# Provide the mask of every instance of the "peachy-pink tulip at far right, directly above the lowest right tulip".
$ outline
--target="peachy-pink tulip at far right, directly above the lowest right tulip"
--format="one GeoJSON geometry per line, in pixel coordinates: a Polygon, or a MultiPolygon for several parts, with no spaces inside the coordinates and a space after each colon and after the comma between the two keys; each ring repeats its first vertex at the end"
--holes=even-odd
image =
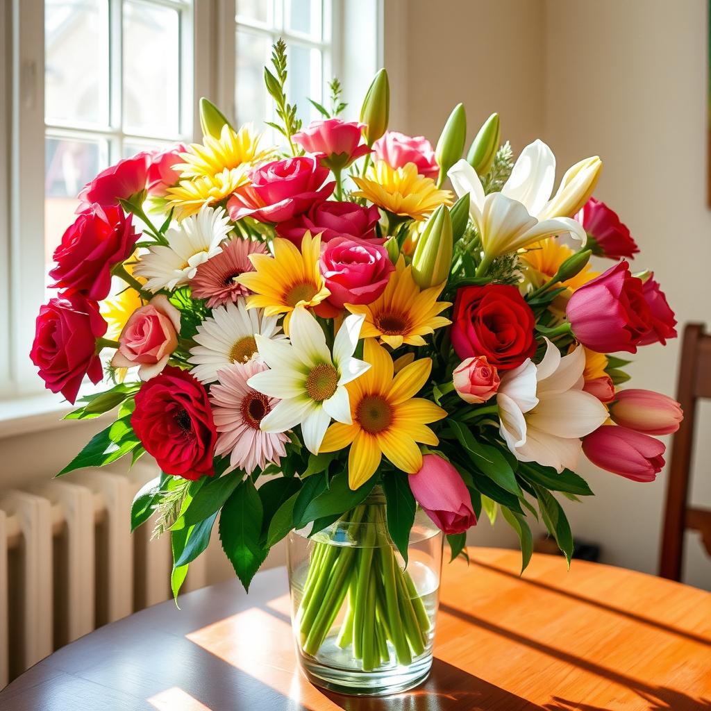
{"type": "Polygon", "coordinates": [[[678,402],[653,390],[621,390],[610,406],[617,424],[645,434],[671,434],[679,429],[684,415],[678,402]]]}

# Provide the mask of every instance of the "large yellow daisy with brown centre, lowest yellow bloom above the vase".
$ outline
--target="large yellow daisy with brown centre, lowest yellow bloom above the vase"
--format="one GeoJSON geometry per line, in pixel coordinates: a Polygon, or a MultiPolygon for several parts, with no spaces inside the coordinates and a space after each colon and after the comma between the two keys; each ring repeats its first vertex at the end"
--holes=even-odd
{"type": "Polygon", "coordinates": [[[383,454],[397,469],[408,474],[419,471],[422,452],[417,442],[439,444],[427,424],[447,417],[434,402],[413,397],[427,383],[431,358],[415,360],[393,377],[392,358],[374,338],[366,339],[363,358],[370,370],[346,386],[353,422],[331,424],[319,449],[338,451],[351,445],[348,484],[352,489],[375,474],[383,454]]]}

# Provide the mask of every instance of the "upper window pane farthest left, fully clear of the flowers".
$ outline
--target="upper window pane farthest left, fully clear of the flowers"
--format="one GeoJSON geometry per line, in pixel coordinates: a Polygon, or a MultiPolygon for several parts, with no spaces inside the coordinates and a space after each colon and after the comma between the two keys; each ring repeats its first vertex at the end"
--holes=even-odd
{"type": "Polygon", "coordinates": [[[45,116],[108,124],[107,0],[46,0],[45,116]]]}

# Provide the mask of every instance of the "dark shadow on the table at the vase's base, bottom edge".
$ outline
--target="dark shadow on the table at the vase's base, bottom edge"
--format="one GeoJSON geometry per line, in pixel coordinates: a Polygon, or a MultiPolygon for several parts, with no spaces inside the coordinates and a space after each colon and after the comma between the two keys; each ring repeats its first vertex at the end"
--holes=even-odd
{"type": "Polygon", "coordinates": [[[343,696],[323,692],[345,711],[540,711],[541,707],[500,689],[441,659],[432,662],[424,685],[384,698],[343,696]]]}

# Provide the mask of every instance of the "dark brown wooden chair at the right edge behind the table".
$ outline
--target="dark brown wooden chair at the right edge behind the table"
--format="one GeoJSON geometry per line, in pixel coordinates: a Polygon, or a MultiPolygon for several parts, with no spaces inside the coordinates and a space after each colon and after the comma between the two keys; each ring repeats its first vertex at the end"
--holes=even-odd
{"type": "Polygon", "coordinates": [[[685,529],[699,531],[704,547],[711,555],[711,510],[688,505],[696,402],[702,397],[711,397],[711,334],[704,333],[702,324],[687,324],[676,393],[684,410],[684,419],[672,440],[659,565],[661,577],[671,580],[681,577],[685,529]]]}

